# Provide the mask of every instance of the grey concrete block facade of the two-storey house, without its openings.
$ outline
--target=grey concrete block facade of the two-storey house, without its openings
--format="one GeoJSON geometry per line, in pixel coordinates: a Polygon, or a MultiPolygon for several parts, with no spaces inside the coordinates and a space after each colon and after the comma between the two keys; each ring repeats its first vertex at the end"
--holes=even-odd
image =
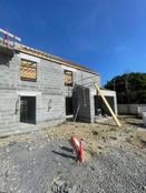
{"type": "MultiPolygon", "coordinates": [[[[68,68],[58,63],[30,57],[37,61],[37,82],[20,80],[21,58],[30,55],[16,53],[8,59],[8,54],[0,53],[0,130],[16,130],[20,123],[20,98],[36,96],[36,122],[61,123],[66,120],[66,96],[72,96],[75,84],[86,88],[91,81],[100,82],[99,75],[72,69],[74,87],[65,87],[64,70],[68,68]],[[90,79],[87,79],[89,78],[90,79]]],[[[70,69],[70,70],[71,70],[70,69]]],[[[90,93],[90,91],[89,91],[90,93]]],[[[80,93],[81,94],[81,93],[80,93]]],[[[87,94],[90,98],[90,94],[87,94]]],[[[80,101],[82,96],[80,95],[80,101]]],[[[93,105],[90,101],[90,106],[93,105]]],[[[90,110],[90,109],[89,109],[90,110]]],[[[93,114],[84,115],[91,120],[93,114]]]]}

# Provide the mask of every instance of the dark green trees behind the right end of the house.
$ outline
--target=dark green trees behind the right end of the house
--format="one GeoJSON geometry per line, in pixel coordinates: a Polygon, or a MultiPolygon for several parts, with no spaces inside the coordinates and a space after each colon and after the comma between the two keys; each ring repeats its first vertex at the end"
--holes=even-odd
{"type": "Polygon", "coordinates": [[[108,81],[105,88],[117,92],[118,103],[146,103],[146,73],[117,75],[108,81]]]}

